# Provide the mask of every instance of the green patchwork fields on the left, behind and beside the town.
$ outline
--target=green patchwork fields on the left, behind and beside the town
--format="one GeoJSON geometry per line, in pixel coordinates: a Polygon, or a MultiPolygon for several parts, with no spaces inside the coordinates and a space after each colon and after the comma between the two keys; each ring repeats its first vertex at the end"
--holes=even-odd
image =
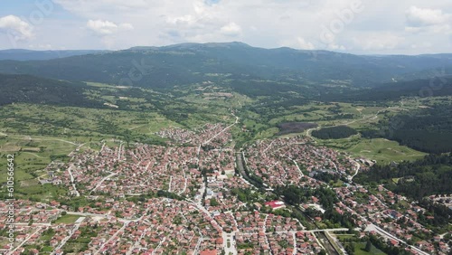
{"type": "Polygon", "coordinates": [[[184,95],[186,91],[181,90],[178,92],[182,97],[174,99],[171,95],[152,90],[119,88],[101,83],[89,85],[93,88],[89,90],[89,97],[101,102],[118,103],[119,109],[25,103],[0,107],[0,118],[4,120],[0,123],[0,175],[6,174],[6,155],[14,154],[17,198],[48,201],[63,194],[65,191],[60,188],[40,184],[38,178],[47,178],[47,165],[52,161],[67,162],[68,154],[76,148],[80,151],[99,150],[103,143],[118,146],[111,142],[113,139],[162,144],[166,139],[155,135],[162,129],[193,129],[208,122],[232,124],[235,117],[231,115],[231,107],[250,102],[250,99],[237,93],[233,93],[231,99],[207,100],[184,95]],[[160,104],[163,110],[156,109],[154,104],[160,104]]]}

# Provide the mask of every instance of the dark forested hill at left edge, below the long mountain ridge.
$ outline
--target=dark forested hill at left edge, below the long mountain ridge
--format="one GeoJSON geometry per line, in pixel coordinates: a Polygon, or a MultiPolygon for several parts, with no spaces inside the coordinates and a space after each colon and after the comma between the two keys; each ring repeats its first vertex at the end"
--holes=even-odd
{"type": "Polygon", "coordinates": [[[63,106],[100,107],[87,99],[85,83],[49,80],[30,75],[0,74],[0,106],[26,102],[63,106]]]}

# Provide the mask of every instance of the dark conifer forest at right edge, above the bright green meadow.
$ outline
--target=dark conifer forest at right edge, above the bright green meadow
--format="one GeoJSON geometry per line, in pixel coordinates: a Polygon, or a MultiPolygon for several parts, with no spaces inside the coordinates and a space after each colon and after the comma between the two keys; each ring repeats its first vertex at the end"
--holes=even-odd
{"type": "Polygon", "coordinates": [[[363,137],[384,137],[427,153],[452,151],[452,106],[437,104],[379,123],[380,130],[364,130],[363,137]]]}

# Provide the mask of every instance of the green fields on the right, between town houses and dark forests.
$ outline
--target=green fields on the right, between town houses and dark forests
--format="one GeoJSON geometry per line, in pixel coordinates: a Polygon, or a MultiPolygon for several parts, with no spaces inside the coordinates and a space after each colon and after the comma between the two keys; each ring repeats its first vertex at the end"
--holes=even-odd
{"type": "MultiPolygon", "coordinates": [[[[407,110],[417,109],[419,103],[416,100],[409,101],[409,103],[405,103],[405,107],[407,110]]],[[[241,114],[241,117],[244,119],[243,124],[250,130],[249,137],[251,139],[293,137],[297,134],[304,134],[313,138],[317,145],[329,146],[346,151],[353,157],[366,157],[376,160],[378,164],[385,164],[392,161],[412,161],[426,154],[407,146],[400,146],[399,143],[384,138],[368,139],[357,134],[347,138],[324,140],[312,137],[310,134],[312,130],[322,127],[346,126],[357,131],[374,128],[379,121],[390,118],[398,109],[400,109],[400,102],[387,103],[385,106],[311,102],[305,106],[283,109],[278,118],[272,118],[268,123],[259,122],[259,118],[265,119],[266,117],[257,113],[241,114]],[[332,119],[334,116],[336,118],[332,119]],[[342,117],[337,118],[337,116],[342,117]],[[300,121],[319,125],[319,127],[311,127],[307,131],[300,130],[299,133],[294,131],[292,134],[278,134],[281,131],[278,126],[281,124],[300,121]]]]}

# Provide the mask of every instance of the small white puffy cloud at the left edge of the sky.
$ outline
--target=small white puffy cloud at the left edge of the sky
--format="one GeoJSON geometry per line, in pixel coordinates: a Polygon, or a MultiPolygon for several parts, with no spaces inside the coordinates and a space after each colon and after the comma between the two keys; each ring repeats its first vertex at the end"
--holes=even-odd
{"type": "Polygon", "coordinates": [[[0,18],[0,31],[8,33],[14,41],[26,40],[33,37],[33,26],[15,15],[0,18]]]}

